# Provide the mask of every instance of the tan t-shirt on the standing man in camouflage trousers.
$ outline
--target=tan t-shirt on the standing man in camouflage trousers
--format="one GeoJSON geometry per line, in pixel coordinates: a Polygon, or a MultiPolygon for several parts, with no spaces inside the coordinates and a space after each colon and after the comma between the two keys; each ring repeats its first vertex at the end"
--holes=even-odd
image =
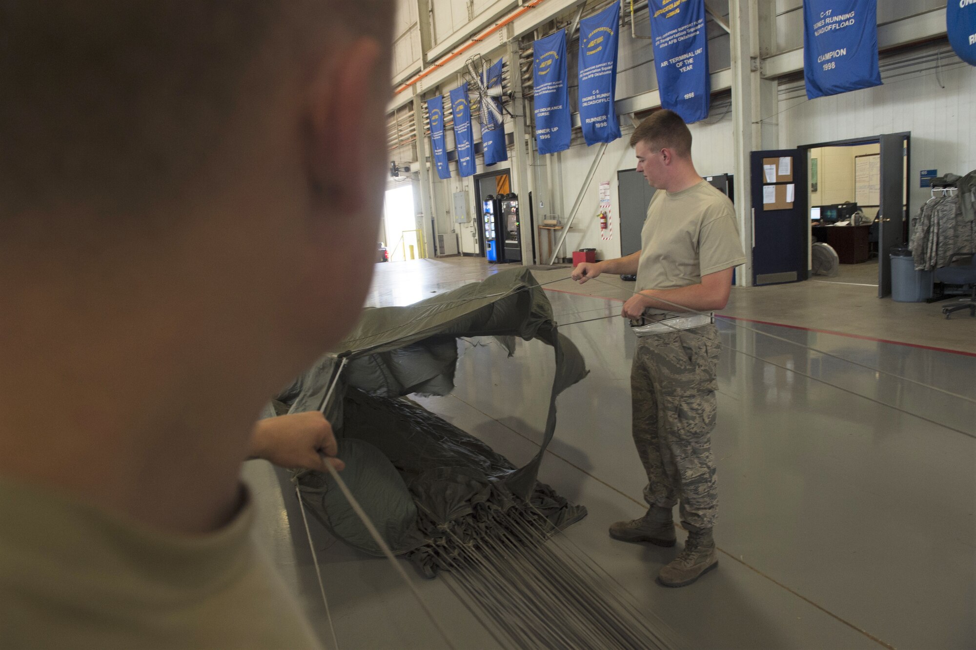
{"type": "Polygon", "coordinates": [[[640,232],[637,291],[701,284],[703,275],[745,262],[732,201],[710,183],[651,197],[640,232]]]}

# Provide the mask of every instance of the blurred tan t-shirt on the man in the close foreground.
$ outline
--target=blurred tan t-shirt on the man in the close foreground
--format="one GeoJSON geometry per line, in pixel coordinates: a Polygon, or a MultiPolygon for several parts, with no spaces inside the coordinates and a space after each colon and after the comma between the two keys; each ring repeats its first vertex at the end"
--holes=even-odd
{"type": "Polygon", "coordinates": [[[0,479],[0,646],[319,648],[253,518],[168,535],[0,479]]]}

